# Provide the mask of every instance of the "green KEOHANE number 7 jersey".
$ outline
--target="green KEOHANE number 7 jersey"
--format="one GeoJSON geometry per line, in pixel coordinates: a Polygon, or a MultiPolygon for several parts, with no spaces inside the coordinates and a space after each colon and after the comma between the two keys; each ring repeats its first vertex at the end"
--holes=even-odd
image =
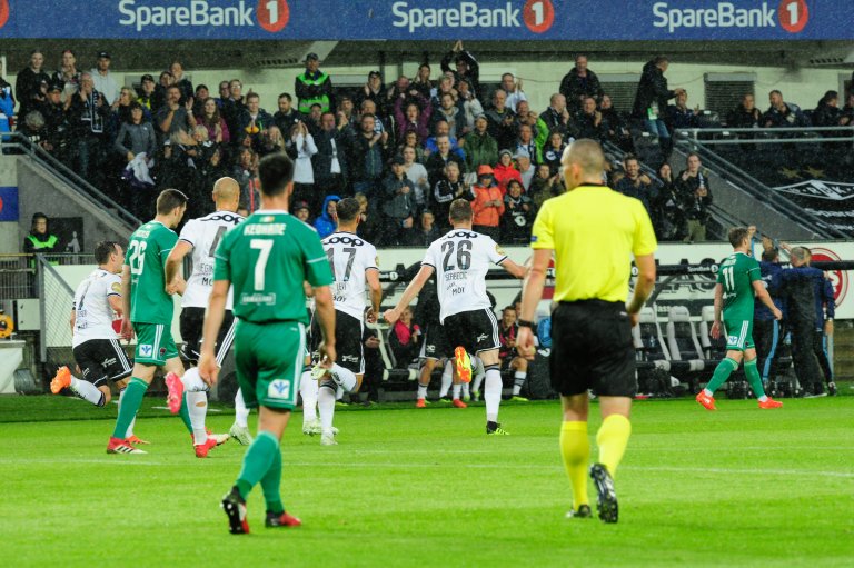
{"type": "Polygon", "coordinates": [[[234,287],[234,313],[245,321],[308,323],[302,282],[332,283],[317,232],[286,211],[259,210],[217,247],[214,280],[234,287]]]}

